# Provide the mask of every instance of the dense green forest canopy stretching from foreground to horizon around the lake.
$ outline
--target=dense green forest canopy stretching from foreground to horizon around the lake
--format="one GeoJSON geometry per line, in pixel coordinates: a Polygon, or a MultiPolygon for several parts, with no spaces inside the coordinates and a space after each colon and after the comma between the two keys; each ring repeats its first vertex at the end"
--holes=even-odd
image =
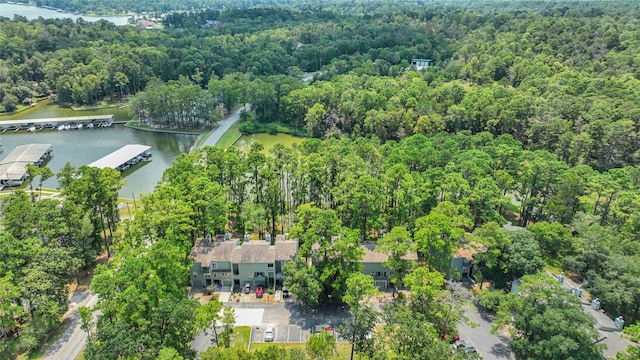
{"type": "MultiPolygon", "coordinates": [[[[93,291],[108,316],[93,324],[86,358],[155,357],[163,348],[193,356],[199,308],[184,291],[189,253],[197,238],[227,230],[289,232],[301,256],[313,244],[326,250],[316,273],[306,272],[306,261],[287,268],[291,278],[315,281],[310,303],[344,299],[362,257],[354,245],[386,233],[442,273],[447,256],[473,238],[487,249],[479,276],[495,288],[547,265],[583,281],[609,313],[640,320],[635,2],[514,1],[497,9],[472,1],[246,1],[223,9],[231,1],[203,0],[141,1],[136,9],[130,1],[40,1],[79,11],[102,4],[109,13],[209,9],[167,13],[153,30],[0,17],[0,112],[53,94],[61,105],[124,99],[142,123],[208,128],[248,104],[244,132],[284,128],[311,138],[268,152],[254,144],[247,153],[208,147],[181,155],[112,244],[122,257],[96,270],[93,291]],[[418,69],[413,59],[433,66],[418,69]],[[524,229],[506,232],[508,221],[524,229]],[[327,240],[337,234],[345,236],[327,240]],[[146,282],[149,274],[156,282],[146,282]],[[168,325],[156,314],[180,316],[168,325]]],[[[9,291],[0,310],[29,324],[16,348],[36,347],[55,326],[66,310],[64,284],[109,251],[104,240],[117,231],[120,178],[75,172],[59,174],[62,206],[21,191],[3,201],[0,282],[9,291]],[[52,255],[39,257],[45,253],[52,255]],[[54,257],[60,269],[51,276],[54,257]],[[49,283],[31,291],[42,278],[49,283]],[[24,313],[21,299],[41,305],[24,313]]],[[[406,253],[380,242],[398,259],[406,253]]],[[[412,270],[397,264],[398,273],[412,270]]],[[[419,284],[418,275],[405,281],[419,284]]],[[[0,325],[18,326],[6,319],[0,325]]],[[[425,334],[436,338],[431,330],[425,334]]]]}

